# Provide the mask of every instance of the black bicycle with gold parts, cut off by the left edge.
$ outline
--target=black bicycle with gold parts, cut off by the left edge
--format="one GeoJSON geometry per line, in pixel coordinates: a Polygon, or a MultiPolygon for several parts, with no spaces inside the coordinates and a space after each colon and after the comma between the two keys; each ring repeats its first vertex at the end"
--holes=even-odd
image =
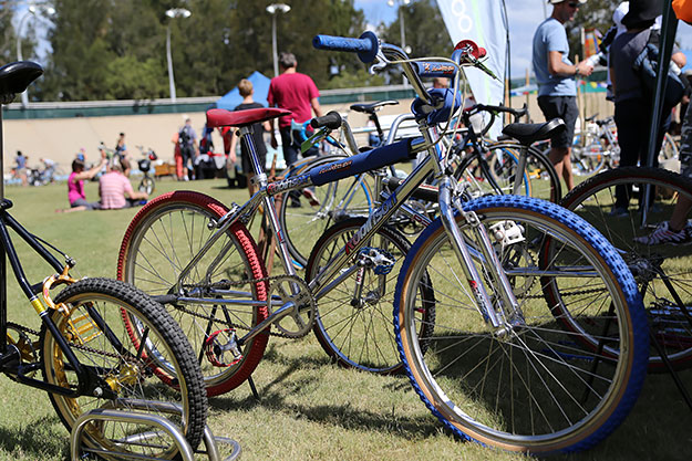
{"type": "MultiPolygon", "coordinates": [[[[0,67],[0,102],[9,104],[42,73],[40,65],[28,61],[0,67]]],[[[0,115],[0,138],[1,122],[0,115]]],[[[0,147],[0,169],[1,159],[0,147]]],[[[179,326],[159,304],[131,285],[73,277],[75,261],[60,252],[65,260],[61,263],[51,252],[59,252],[55,247],[31,234],[9,213],[12,202],[3,196],[0,186],[0,283],[7,284],[7,254],[21,291],[41,318],[41,328],[9,322],[7,290],[0,291],[0,371],[45,390],[68,430],[92,409],[137,410],[178,425],[196,448],[205,428],[207,400],[194,352],[179,326]],[[10,229],[48,263],[53,275],[39,283],[28,280],[10,229]],[[51,295],[60,285],[66,287],[51,295]],[[157,407],[162,402],[182,412],[165,413],[157,407]]],[[[103,421],[90,425],[85,434],[86,451],[92,453],[166,459],[177,453],[172,440],[134,423],[103,421]]]]}

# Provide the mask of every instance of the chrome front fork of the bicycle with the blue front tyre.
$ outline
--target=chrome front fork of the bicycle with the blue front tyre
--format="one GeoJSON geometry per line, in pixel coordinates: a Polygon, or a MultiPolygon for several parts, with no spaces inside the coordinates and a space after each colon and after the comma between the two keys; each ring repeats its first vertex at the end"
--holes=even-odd
{"type": "Polygon", "coordinates": [[[493,242],[488,237],[487,229],[478,220],[475,212],[466,212],[462,206],[458,195],[455,193],[456,186],[451,177],[445,177],[440,185],[440,213],[442,223],[450,235],[454,253],[462,265],[464,275],[476,300],[476,307],[486,322],[489,322],[497,336],[505,336],[512,326],[524,323],[524,315],[519,308],[514,290],[509,280],[503,272],[502,262],[495,252],[493,242]],[[458,210],[462,218],[468,224],[473,240],[478,247],[478,262],[489,275],[488,283],[496,286],[499,298],[495,305],[488,295],[483,277],[478,273],[474,258],[464,239],[454,217],[454,210],[458,210]]]}

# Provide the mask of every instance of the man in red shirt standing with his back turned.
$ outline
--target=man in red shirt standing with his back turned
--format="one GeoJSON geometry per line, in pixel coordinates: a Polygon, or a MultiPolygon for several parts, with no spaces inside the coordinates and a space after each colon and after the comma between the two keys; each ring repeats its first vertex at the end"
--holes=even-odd
{"type": "MultiPolygon", "coordinates": [[[[296,61],[293,53],[283,52],[279,54],[281,74],[271,78],[267,95],[269,107],[277,106],[292,112],[292,115],[279,118],[283,159],[287,166],[298,159],[298,151],[300,150],[300,146],[293,143],[291,137],[291,119],[298,123],[307,122],[312,118],[312,111],[314,111],[316,116],[322,116],[322,108],[318,101],[320,93],[312,78],[296,72],[297,65],[298,61],[296,61]]],[[[278,144],[273,130],[273,121],[271,123],[271,146],[276,148],[278,144]]],[[[308,150],[306,156],[317,155],[317,148],[311,150],[308,150]]]]}

